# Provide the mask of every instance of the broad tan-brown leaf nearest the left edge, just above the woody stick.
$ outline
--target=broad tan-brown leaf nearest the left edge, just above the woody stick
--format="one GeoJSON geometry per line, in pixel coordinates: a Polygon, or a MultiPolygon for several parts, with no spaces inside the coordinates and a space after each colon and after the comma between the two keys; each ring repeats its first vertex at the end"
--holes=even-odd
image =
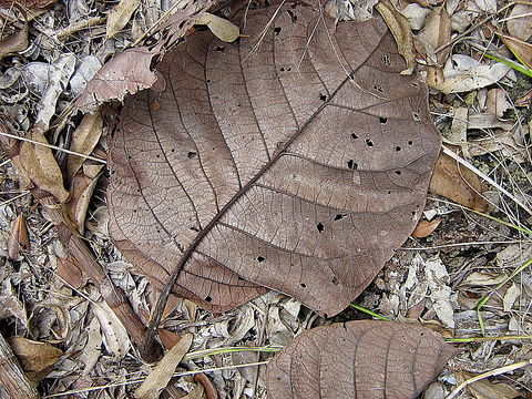
{"type": "MultiPolygon", "coordinates": [[[[30,131],[29,139],[48,144],[47,137],[37,127],[30,131]]],[[[13,157],[13,164],[37,187],[52,194],[60,203],[69,198],[70,194],[63,186],[63,175],[49,147],[22,142],[19,154],[13,157]]]]}

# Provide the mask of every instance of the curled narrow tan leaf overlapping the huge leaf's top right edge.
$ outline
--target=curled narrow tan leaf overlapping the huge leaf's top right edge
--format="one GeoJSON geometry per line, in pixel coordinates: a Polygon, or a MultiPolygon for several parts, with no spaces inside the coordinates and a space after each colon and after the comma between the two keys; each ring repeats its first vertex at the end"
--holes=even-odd
{"type": "Polygon", "coordinates": [[[412,73],[416,66],[416,57],[413,55],[413,38],[408,19],[397,11],[396,7],[389,0],[379,1],[375,8],[380,12],[393,34],[399,54],[407,61],[407,69],[401,71],[401,73],[412,73]]]}

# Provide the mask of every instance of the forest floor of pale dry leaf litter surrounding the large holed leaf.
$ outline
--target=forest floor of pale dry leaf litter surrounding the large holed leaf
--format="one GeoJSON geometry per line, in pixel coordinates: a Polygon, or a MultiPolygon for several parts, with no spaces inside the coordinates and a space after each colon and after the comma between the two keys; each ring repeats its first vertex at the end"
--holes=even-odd
{"type": "MultiPolygon", "coordinates": [[[[133,9],[116,10],[117,1],[23,0],[14,6],[0,0],[0,123],[9,122],[21,136],[44,123],[48,142],[69,147],[82,121],[71,105],[85,80],[114,54],[144,43],[146,32],[174,4],[122,2],[133,9]],[[123,22],[108,22],[112,9],[123,22]]],[[[338,3],[345,18],[360,13],[338,3]]],[[[418,0],[399,1],[397,9],[410,22],[416,73],[429,83],[443,145],[450,152],[458,149],[470,171],[457,172],[453,161],[454,168],[440,171],[448,175],[429,192],[424,227],[396,252],[354,307],[332,318],[275,291],[223,315],[172,299],[164,339],[193,332],[192,351],[216,352],[185,359],[177,369],[182,376],[163,397],[185,397],[200,383],[207,398],[213,391],[218,398],[265,398],[264,366],[235,366],[267,361],[270,351],[301,330],[380,317],[417,320],[462,349],[424,398],[444,398],[488,371],[492,375],[458,397],[532,398],[531,366],[499,372],[532,359],[532,2],[418,0]],[[197,374],[206,369],[214,370],[197,374]]],[[[0,129],[6,144],[8,130],[0,129]]],[[[99,144],[93,155],[104,158],[105,119],[100,127],[93,122],[89,130],[94,129],[99,144]]],[[[96,287],[68,259],[53,223],[8,155],[2,152],[0,160],[0,331],[4,338],[47,342],[9,339],[44,398],[127,398],[152,367],[140,359],[96,287]]],[[[65,171],[66,154],[59,150],[55,157],[65,171]]],[[[85,171],[89,177],[91,173],[85,171]]],[[[109,238],[108,176],[99,173],[92,175],[100,176],[94,191],[86,192],[90,201],[72,212],[86,213],[84,238],[133,309],[147,319],[154,296],[109,238]]]]}

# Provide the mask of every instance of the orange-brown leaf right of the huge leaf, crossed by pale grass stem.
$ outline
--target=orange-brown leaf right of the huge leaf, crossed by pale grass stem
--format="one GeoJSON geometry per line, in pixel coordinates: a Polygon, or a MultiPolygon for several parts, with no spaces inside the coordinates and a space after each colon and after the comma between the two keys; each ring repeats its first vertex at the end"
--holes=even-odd
{"type": "Polygon", "coordinates": [[[440,154],[429,190],[463,206],[484,212],[488,204],[480,193],[484,191],[479,176],[447,154],[440,154]]]}

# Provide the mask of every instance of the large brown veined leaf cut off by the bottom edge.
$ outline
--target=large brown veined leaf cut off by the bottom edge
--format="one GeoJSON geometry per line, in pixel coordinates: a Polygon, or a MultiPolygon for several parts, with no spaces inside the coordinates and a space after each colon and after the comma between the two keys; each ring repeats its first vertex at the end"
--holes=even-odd
{"type": "Polygon", "coordinates": [[[427,328],[348,321],[307,330],[267,366],[268,397],[415,399],[457,354],[427,328]]]}

